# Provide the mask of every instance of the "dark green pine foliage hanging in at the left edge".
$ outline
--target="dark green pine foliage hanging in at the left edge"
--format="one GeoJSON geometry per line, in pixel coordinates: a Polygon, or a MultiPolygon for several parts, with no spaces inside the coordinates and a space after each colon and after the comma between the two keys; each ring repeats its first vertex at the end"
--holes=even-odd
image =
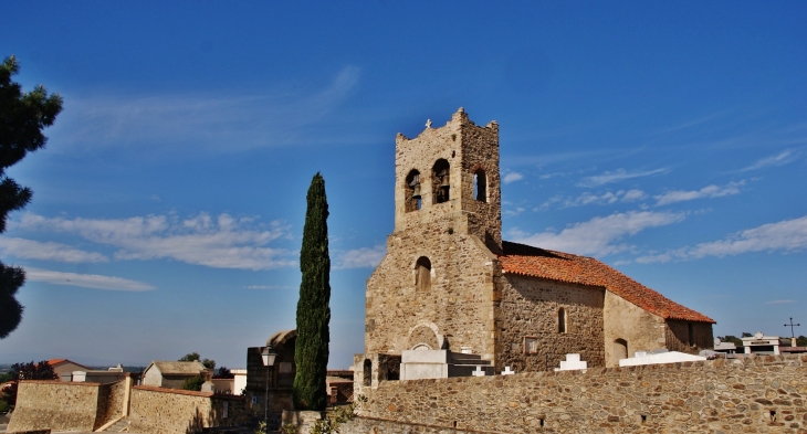
{"type": "MultiPolygon", "coordinates": [[[[62,97],[48,95],[42,85],[33,92],[22,92],[11,77],[20,71],[14,56],[0,64],[0,233],[11,211],[22,209],[31,201],[31,190],[14,182],[6,169],[22,160],[28,152],[45,146],[42,129],[53,125],[62,110],[62,97]]],[[[0,262],[0,339],[14,331],[22,320],[22,305],[14,297],[25,283],[22,268],[0,262]]]]}

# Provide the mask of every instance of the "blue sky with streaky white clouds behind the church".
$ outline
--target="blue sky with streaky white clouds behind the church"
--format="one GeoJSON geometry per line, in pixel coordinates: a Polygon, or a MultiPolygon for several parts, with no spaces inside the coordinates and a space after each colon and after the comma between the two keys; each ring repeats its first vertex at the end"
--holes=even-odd
{"type": "Polygon", "coordinates": [[[64,97],[0,237],[0,362],[230,368],[294,327],[331,204],[331,366],[363,350],[395,135],[501,126],[504,239],[595,256],[717,320],[807,335],[807,3],[10,2],[0,54],[64,97]]]}

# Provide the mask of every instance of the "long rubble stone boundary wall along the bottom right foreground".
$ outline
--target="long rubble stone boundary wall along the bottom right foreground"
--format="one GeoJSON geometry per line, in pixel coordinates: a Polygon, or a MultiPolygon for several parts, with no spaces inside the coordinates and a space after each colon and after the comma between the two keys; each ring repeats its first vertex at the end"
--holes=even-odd
{"type": "Polygon", "coordinates": [[[807,356],[387,381],[343,434],[807,433],[807,356]]]}

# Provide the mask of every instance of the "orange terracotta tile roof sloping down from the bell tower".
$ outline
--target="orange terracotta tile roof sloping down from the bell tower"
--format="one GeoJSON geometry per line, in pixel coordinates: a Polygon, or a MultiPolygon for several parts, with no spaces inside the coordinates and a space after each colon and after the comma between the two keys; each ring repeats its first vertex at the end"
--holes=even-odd
{"type": "Polygon", "coordinates": [[[505,273],[551,280],[604,287],[623,299],[664,319],[694,322],[716,321],[664,297],[610,266],[586,256],[502,242],[499,256],[505,273]]]}

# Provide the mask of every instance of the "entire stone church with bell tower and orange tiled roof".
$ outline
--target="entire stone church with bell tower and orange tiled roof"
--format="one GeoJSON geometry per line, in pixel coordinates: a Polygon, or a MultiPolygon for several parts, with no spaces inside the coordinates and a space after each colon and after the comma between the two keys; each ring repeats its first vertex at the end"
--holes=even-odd
{"type": "Polygon", "coordinates": [[[398,134],[395,170],[395,231],[367,280],[357,393],[480,366],[551,370],[567,353],[615,367],[636,351],[712,347],[713,319],[615,268],[502,240],[495,121],[478,126],[460,108],[413,139],[398,134]]]}

